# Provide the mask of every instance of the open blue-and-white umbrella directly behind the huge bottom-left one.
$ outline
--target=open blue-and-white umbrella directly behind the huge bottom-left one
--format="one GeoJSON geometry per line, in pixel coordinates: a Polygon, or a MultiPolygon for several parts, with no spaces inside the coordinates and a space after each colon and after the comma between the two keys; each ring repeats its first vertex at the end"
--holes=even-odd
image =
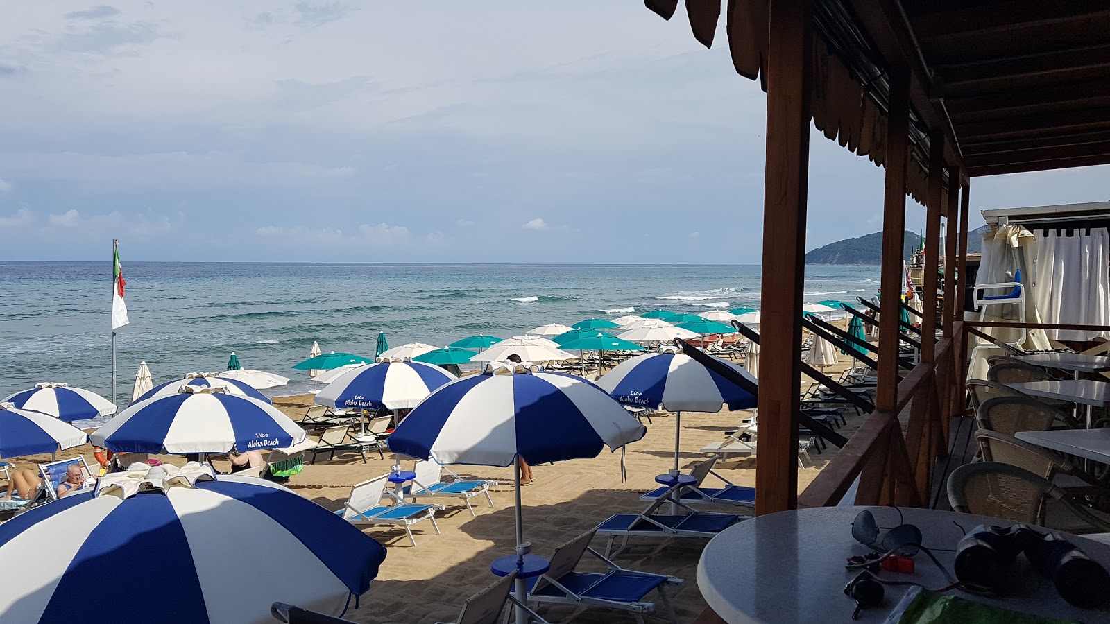
{"type": "Polygon", "coordinates": [[[92,434],[113,453],[245,453],[303,441],[304,430],[269,403],[191,385],[132,403],[92,434]]]}

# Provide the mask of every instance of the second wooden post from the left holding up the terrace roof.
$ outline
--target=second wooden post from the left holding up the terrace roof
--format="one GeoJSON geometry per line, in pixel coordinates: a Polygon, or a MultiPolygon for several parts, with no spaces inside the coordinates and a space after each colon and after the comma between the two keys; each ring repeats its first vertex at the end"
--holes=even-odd
{"type": "MultiPolygon", "coordinates": [[[[773,2],[775,4],[775,2],[773,2]]],[[[879,379],[875,409],[892,412],[898,402],[898,319],[906,238],[906,159],[909,153],[909,70],[890,70],[886,187],[882,193],[882,273],[879,285],[879,379]]],[[[766,282],[764,282],[766,283],[766,282]]],[[[763,361],[760,361],[763,363],[763,361]]],[[[758,487],[756,489],[758,493],[758,487]]]]}

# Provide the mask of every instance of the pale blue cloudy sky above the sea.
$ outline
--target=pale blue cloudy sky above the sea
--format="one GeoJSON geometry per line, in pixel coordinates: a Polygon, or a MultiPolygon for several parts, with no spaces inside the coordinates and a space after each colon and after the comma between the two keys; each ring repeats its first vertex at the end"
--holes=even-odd
{"type": "MultiPolygon", "coordinates": [[[[760,260],[766,97],[682,10],[19,2],[0,90],[0,260],[760,260]]],[[[882,170],[810,143],[807,249],[880,230],[882,170]]],[[[972,225],[1108,179],[976,179],[972,225]]]]}

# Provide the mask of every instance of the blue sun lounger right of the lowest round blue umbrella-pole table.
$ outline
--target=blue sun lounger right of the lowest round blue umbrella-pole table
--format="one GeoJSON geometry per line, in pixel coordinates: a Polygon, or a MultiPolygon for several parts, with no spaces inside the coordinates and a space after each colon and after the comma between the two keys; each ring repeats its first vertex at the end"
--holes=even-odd
{"type": "Polygon", "coordinates": [[[654,613],[655,604],[644,600],[653,591],[667,607],[670,621],[678,617],[670,606],[667,585],[682,585],[683,580],[666,574],[650,574],[626,570],[608,557],[589,547],[596,529],[589,530],[555,548],[551,556],[551,567],[546,573],[528,580],[528,601],[534,603],[581,604],[628,611],[636,622],[644,624],[644,614],[654,613]],[[576,572],[582,555],[589,552],[605,562],[603,573],[576,572]]]}

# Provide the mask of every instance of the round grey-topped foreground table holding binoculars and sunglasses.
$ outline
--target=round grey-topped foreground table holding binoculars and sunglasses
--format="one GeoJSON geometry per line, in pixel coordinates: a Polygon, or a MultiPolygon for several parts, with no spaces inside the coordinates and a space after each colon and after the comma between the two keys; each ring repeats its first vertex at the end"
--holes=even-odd
{"type": "MultiPolygon", "coordinates": [[[[702,553],[697,584],[706,603],[729,624],[741,622],[851,622],[856,603],[844,587],[859,574],[845,570],[845,560],[869,551],[851,537],[851,521],[871,510],[881,527],[898,524],[894,507],[814,507],[757,516],[723,531],[702,553]]],[[[904,522],[917,525],[925,546],[955,548],[963,535],[980,524],[1008,526],[999,519],[936,510],[902,509],[904,522]],[[962,530],[961,530],[962,527],[962,530]]],[[[1057,532],[1060,533],[1060,532],[1057,532]]],[[[1088,556],[1110,568],[1110,544],[1068,536],[1088,556]]],[[[955,552],[934,550],[948,571],[955,552]]],[[[944,574],[925,553],[915,557],[914,575],[880,571],[879,578],[912,580],[928,587],[947,585],[944,574]]],[[[1098,610],[1071,606],[1051,581],[1029,568],[1025,556],[1015,562],[1018,585],[1005,597],[953,591],[949,594],[1026,613],[1072,617],[1081,622],[1110,622],[1110,606],[1098,610]]],[[[886,585],[878,608],[865,608],[858,622],[882,622],[907,587],[886,585]]]]}

